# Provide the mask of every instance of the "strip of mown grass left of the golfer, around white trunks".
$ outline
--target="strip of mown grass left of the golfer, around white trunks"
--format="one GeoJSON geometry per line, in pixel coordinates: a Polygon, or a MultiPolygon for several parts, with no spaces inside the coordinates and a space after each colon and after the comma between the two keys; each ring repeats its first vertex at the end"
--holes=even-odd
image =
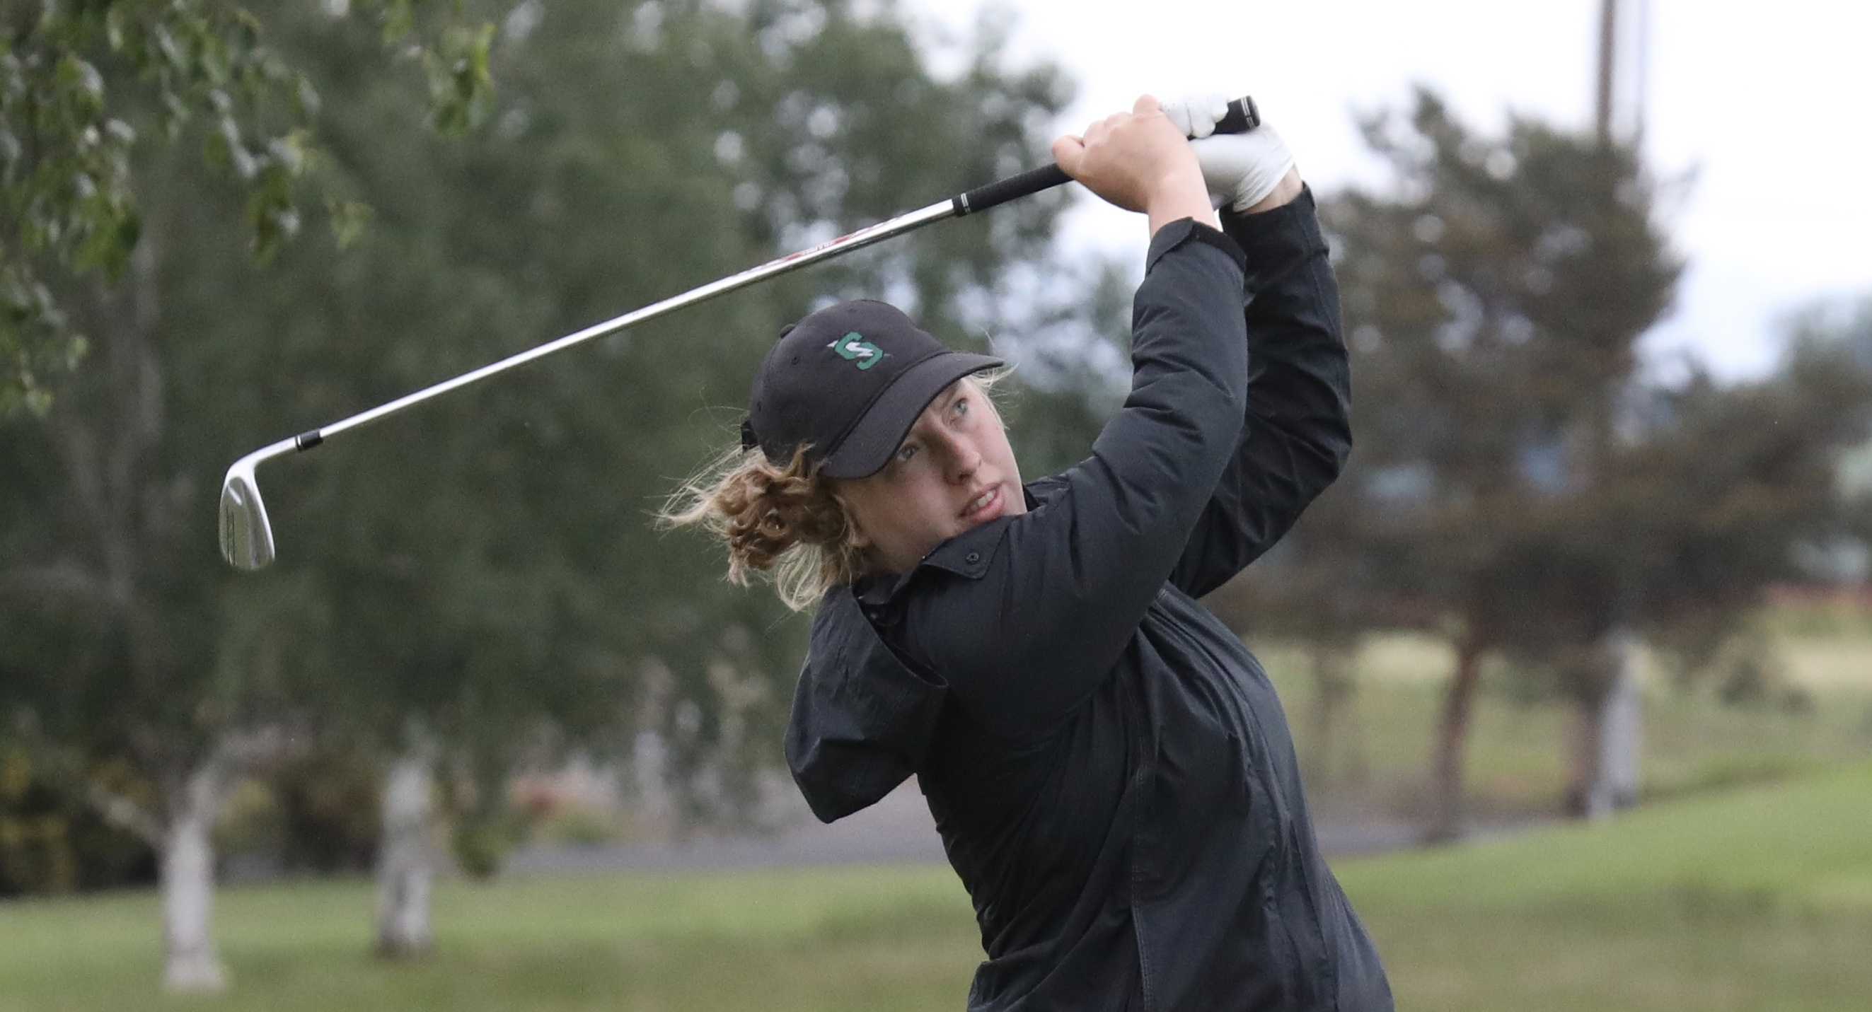
{"type": "Polygon", "coordinates": [[[953,1008],[979,958],[947,868],[444,883],[414,963],[369,956],[371,904],[365,883],[221,890],[234,988],[213,999],[154,988],[155,896],[4,905],[0,1010],[953,1008]]]}

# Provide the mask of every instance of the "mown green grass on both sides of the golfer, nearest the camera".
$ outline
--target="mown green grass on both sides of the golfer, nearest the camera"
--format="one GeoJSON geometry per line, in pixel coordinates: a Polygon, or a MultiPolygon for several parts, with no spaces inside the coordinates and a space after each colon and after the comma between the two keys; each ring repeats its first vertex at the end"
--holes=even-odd
{"type": "MultiPolygon", "coordinates": [[[[1872,997],[1872,765],[1608,825],[1340,862],[1406,1010],[1840,1010],[1872,997]]],[[[371,890],[223,890],[234,988],[157,991],[150,894],[0,905],[4,1010],[960,1008],[947,868],[446,883],[438,952],[367,954],[371,890]]]]}

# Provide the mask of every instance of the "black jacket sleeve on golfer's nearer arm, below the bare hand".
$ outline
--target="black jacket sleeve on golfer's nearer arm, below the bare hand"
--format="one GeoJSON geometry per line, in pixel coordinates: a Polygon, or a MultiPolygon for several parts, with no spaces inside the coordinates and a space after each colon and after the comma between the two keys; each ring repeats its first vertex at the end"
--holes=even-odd
{"type": "Polygon", "coordinates": [[[910,651],[988,730],[1043,733],[1086,700],[1183,554],[1241,430],[1241,266],[1213,228],[1159,228],[1133,299],[1131,393],[1091,456],[1005,524],[975,578],[932,572],[908,595],[910,651]]]}

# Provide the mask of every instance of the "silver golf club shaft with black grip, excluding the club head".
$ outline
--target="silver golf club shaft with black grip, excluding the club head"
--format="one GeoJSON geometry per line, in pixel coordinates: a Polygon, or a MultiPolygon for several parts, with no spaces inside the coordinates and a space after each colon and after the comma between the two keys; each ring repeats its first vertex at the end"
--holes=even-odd
{"type": "MultiPolygon", "coordinates": [[[[1260,112],[1254,108],[1254,99],[1250,99],[1250,97],[1239,97],[1239,99],[1234,99],[1234,101],[1228,103],[1228,114],[1215,125],[1215,133],[1247,133],[1247,131],[1250,131],[1250,129],[1254,129],[1258,125],[1260,125],[1260,112]]],[[[700,288],[691,288],[689,292],[683,292],[681,296],[672,296],[668,299],[663,299],[661,303],[648,305],[644,309],[636,309],[636,311],[625,312],[623,316],[614,316],[610,320],[605,320],[603,324],[593,324],[593,325],[590,325],[590,327],[586,327],[582,331],[569,333],[569,335],[565,335],[565,337],[562,337],[558,340],[548,340],[545,344],[528,348],[526,352],[520,352],[517,355],[509,355],[509,357],[500,359],[496,363],[483,365],[481,369],[475,369],[474,372],[464,372],[461,376],[455,376],[453,380],[444,380],[444,382],[434,383],[431,387],[423,387],[423,389],[419,389],[416,393],[408,393],[404,397],[399,397],[397,400],[391,400],[388,404],[380,404],[376,408],[371,408],[369,412],[359,412],[359,413],[356,413],[356,415],[352,415],[348,419],[335,421],[335,423],[326,425],[322,428],[313,428],[311,432],[301,432],[300,436],[292,438],[292,449],[298,449],[298,451],[313,449],[318,443],[326,441],[328,438],[337,436],[339,432],[344,432],[346,428],[358,428],[361,425],[369,425],[369,423],[373,423],[376,419],[393,415],[393,413],[397,413],[397,412],[401,412],[404,408],[412,408],[416,404],[421,404],[423,400],[429,400],[432,397],[440,397],[440,395],[449,393],[453,389],[466,387],[470,383],[477,383],[477,382],[487,380],[490,376],[498,376],[498,374],[502,374],[502,372],[505,372],[505,370],[509,370],[513,367],[526,365],[526,363],[530,363],[534,359],[543,359],[543,357],[547,357],[547,355],[550,355],[554,352],[571,348],[573,344],[582,344],[582,342],[592,340],[595,337],[605,337],[605,335],[610,335],[610,333],[618,333],[618,331],[622,331],[625,327],[631,327],[635,324],[642,324],[646,320],[655,320],[657,316],[663,316],[665,312],[672,312],[676,309],[696,305],[696,303],[711,299],[715,296],[723,296],[726,292],[734,292],[736,288],[747,288],[749,284],[754,284],[758,281],[766,281],[769,277],[782,275],[786,271],[794,271],[794,269],[805,267],[809,264],[818,264],[822,260],[831,260],[833,256],[850,253],[854,249],[861,249],[861,247],[884,241],[884,239],[889,239],[893,236],[900,236],[900,234],[910,232],[914,228],[921,228],[921,226],[925,226],[925,224],[929,224],[932,221],[942,221],[942,219],[947,219],[947,217],[962,217],[962,215],[968,215],[968,213],[973,213],[973,211],[985,211],[985,210],[994,208],[998,204],[1005,204],[1009,200],[1018,200],[1022,196],[1030,196],[1030,195],[1041,193],[1045,189],[1052,189],[1052,187],[1056,187],[1060,183],[1065,183],[1065,181],[1069,181],[1069,176],[1058,165],[1046,165],[1046,166],[1041,166],[1041,168],[1031,168],[1028,172],[1018,172],[1015,176],[1007,176],[1005,180],[996,180],[996,181],[992,181],[988,185],[975,187],[975,189],[966,191],[966,193],[958,193],[958,195],[951,196],[945,202],[930,204],[929,208],[923,208],[923,210],[917,210],[917,211],[910,211],[910,213],[904,213],[904,215],[897,215],[897,217],[893,217],[889,221],[882,221],[878,224],[870,224],[867,228],[859,228],[857,232],[850,232],[846,236],[839,236],[837,239],[820,243],[820,245],[811,247],[811,249],[803,249],[799,253],[788,253],[786,256],[781,256],[777,260],[769,260],[769,262],[766,262],[766,264],[762,264],[758,267],[749,267],[749,269],[745,269],[745,271],[741,271],[738,275],[730,275],[730,277],[724,277],[721,281],[711,281],[711,282],[708,282],[708,284],[704,284],[700,288]]],[[[268,447],[268,449],[273,449],[273,447],[268,447]]]]}

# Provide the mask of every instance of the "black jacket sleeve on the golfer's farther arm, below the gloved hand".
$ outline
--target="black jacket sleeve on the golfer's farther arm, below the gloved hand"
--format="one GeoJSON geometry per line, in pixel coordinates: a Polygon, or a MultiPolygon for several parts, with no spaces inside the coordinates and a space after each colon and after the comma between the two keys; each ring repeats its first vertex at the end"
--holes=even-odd
{"type": "Polygon", "coordinates": [[[1202,597],[1294,526],[1352,453],[1352,374],[1338,282],[1312,191],[1258,215],[1224,213],[1247,253],[1247,412],[1228,468],[1170,580],[1202,597]]]}

